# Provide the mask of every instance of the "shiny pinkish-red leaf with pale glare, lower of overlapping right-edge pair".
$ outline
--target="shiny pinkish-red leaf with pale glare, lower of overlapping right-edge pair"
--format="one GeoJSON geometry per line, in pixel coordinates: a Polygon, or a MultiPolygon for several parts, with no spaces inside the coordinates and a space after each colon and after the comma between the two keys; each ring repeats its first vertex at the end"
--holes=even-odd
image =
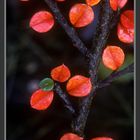
{"type": "Polygon", "coordinates": [[[134,41],[134,29],[127,29],[118,24],[117,35],[120,41],[124,43],[133,43],[134,41]]]}

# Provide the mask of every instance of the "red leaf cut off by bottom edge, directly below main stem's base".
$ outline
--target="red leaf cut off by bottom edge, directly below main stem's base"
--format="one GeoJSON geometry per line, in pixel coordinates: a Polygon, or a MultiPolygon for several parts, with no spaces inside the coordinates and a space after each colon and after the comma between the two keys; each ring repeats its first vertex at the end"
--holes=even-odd
{"type": "Polygon", "coordinates": [[[66,133],[60,138],[60,140],[83,140],[83,138],[73,133],[66,133]]]}

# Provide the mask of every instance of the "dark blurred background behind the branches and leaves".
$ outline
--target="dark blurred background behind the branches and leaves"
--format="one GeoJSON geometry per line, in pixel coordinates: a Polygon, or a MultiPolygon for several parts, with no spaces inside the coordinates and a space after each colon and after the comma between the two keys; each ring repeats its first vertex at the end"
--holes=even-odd
{"type": "MultiPolygon", "coordinates": [[[[67,19],[70,7],[77,2],[84,1],[59,3],[67,19]]],[[[133,3],[133,0],[128,0],[122,11],[133,9],[133,3]]],[[[87,46],[92,43],[99,9],[100,4],[93,7],[95,20],[92,24],[76,29],[87,46]]],[[[32,109],[30,97],[38,89],[39,81],[50,77],[51,69],[62,63],[70,68],[72,75],[88,76],[83,56],[57,22],[52,30],[43,34],[29,28],[30,18],[40,10],[49,10],[43,0],[7,0],[7,140],[59,140],[65,132],[71,131],[72,116],[57,94],[45,111],[32,109]]],[[[111,31],[107,44],[118,45],[126,53],[121,68],[133,62],[133,45],[118,40],[116,27],[111,31]]],[[[110,73],[101,62],[99,78],[103,79],[110,73]]],[[[77,107],[80,99],[70,99],[77,107]]],[[[133,74],[125,75],[99,90],[88,118],[87,138],[109,136],[114,140],[133,140],[133,99],[133,74]]]]}

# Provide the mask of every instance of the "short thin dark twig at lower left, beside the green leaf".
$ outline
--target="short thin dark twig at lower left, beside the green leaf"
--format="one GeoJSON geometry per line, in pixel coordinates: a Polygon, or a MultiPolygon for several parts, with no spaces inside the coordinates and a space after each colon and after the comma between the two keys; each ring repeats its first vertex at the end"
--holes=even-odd
{"type": "Polygon", "coordinates": [[[55,83],[54,91],[60,96],[62,101],[64,102],[65,107],[72,113],[75,114],[75,110],[65,92],[61,89],[58,83],[55,83]]]}

